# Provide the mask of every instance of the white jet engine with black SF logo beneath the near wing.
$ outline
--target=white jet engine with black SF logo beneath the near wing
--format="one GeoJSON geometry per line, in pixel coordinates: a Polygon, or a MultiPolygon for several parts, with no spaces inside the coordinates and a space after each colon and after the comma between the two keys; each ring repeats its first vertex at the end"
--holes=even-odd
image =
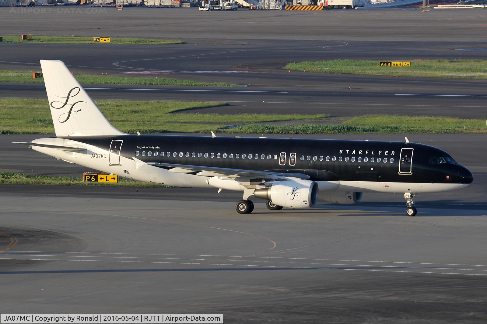
{"type": "Polygon", "coordinates": [[[268,188],[255,190],[254,196],[283,207],[311,208],[318,202],[318,184],[310,180],[274,181],[268,188]]]}

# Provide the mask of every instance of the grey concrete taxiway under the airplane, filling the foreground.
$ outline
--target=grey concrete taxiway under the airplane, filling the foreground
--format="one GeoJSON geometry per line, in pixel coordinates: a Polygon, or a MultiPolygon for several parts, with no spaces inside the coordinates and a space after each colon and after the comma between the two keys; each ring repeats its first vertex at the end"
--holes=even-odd
{"type": "MultiPolygon", "coordinates": [[[[1,137],[2,163],[24,161],[10,171],[82,169],[8,143],[33,137],[1,137]]],[[[1,310],[484,323],[485,135],[415,137],[446,149],[475,179],[464,190],[418,195],[414,218],[392,194],[280,212],[254,199],[254,213],[239,215],[240,195],[216,189],[2,185],[1,310]]]]}

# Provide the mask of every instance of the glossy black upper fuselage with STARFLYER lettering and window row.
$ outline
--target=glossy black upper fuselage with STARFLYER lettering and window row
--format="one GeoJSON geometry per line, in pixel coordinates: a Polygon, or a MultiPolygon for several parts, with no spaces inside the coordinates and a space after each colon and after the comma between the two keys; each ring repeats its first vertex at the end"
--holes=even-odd
{"type": "Polygon", "coordinates": [[[473,180],[472,173],[445,151],[417,143],[161,135],[69,139],[112,152],[118,145],[115,152],[120,156],[144,162],[304,173],[314,181],[468,184],[473,180]]]}

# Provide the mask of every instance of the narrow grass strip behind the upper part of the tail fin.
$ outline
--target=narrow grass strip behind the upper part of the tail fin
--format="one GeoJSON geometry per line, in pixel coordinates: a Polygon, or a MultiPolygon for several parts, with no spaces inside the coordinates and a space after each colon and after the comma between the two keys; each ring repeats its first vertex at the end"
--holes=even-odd
{"type": "MultiPolygon", "coordinates": [[[[39,68],[40,71],[40,68],[39,68]]],[[[0,70],[0,82],[32,82],[44,83],[43,78],[32,77],[34,71],[0,70]]],[[[223,82],[200,82],[192,80],[177,80],[169,78],[139,78],[109,75],[75,74],[81,84],[98,85],[198,85],[198,86],[240,86],[223,82]]]]}

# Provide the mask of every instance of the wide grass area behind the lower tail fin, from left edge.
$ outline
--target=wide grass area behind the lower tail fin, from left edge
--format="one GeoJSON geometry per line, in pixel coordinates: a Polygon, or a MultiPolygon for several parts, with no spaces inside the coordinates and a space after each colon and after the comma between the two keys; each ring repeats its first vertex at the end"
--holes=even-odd
{"type": "MultiPolygon", "coordinates": [[[[326,114],[201,114],[176,113],[192,109],[228,106],[225,102],[95,101],[116,128],[126,133],[209,133],[225,124],[281,120],[316,120],[326,114]]],[[[45,99],[0,98],[0,134],[54,134],[45,99]]]]}

